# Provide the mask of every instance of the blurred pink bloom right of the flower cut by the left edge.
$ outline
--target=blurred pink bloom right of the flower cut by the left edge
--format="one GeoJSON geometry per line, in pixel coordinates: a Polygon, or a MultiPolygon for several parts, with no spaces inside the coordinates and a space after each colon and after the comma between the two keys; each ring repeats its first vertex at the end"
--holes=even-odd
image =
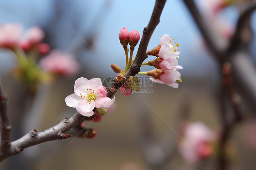
{"type": "Polygon", "coordinates": [[[33,26],[25,33],[24,41],[27,41],[31,46],[41,43],[45,34],[38,26],[33,26]]]}

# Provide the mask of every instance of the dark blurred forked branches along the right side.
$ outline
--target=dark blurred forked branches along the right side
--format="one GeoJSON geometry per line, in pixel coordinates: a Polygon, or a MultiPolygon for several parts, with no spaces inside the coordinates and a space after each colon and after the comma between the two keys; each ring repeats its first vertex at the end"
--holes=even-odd
{"type": "Polygon", "coordinates": [[[213,52],[215,59],[218,61],[220,68],[223,65],[223,89],[220,105],[222,132],[220,137],[220,157],[219,168],[225,170],[228,167],[225,154],[226,140],[229,138],[230,132],[234,128],[236,122],[241,121],[246,115],[246,111],[241,105],[246,105],[246,109],[250,115],[255,115],[256,105],[256,68],[253,64],[252,57],[248,53],[248,45],[251,41],[251,14],[256,10],[256,3],[249,2],[242,9],[239,16],[235,34],[230,38],[229,45],[226,41],[224,44],[219,43],[220,35],[212,30],[210,24],[206,21],[205,17],[200,14],[194,0],[184,0],[185,5],[188,7],[191,15],[193,16],[206,44],[213,52]],[[232,67],[232,71],[231,71],[232,67]],[[233,73],[233,74],[231,74],[233,73]],[[233,78],[232,78],[233,75],[233,78]],[[234,80],[234,82],[233,82],[234,80]],[[239,95],[235,94],[233,85],[239,91],[239,95]],[[227,97],[226,97],[227,95],[227,97]],[[229,110],[226,109],[226,99],[231,103],[232,115],[228,115],[229,110]],[[243,104],[241,104],[241,102],[243,104]]]}

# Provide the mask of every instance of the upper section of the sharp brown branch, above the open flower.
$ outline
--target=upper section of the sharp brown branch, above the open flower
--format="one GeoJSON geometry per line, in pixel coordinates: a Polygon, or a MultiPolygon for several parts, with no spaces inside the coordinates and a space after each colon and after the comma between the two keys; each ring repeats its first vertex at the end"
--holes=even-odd
{"type": "Polygon", "coordinates": [[[139,72],[142,62],[148,57],[147,55],[148,43],[156,26],[160,22],[160,16],[162,14],[165,2],[166,0],[156,0],[154,10],[149,20],[148,26],[145,27],[143,30],[143,35],[139,43],[136,58],[134,59],[133,64],[131,65],[129,70],[123,76],[122,82],[118,82],[117,79],[113,80],[112,86],[108,90],[108,95],[107,95],[108,97],[112,97],[117,92],[118,88],[121,87],[126,82],[126,80],[128,80],[130,76],[136,75],[139,72]]]}

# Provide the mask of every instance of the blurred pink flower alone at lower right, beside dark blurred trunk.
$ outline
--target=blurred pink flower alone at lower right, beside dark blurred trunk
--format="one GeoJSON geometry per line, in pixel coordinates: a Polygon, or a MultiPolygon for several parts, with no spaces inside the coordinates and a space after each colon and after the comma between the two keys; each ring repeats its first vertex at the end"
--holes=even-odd
{"type": "Polygon", "coordinates": [[[214,132],[205,124],[190,123],[185,127],[183,140],[179,143],[180,154],[189,164],[210,157],[212,154],[211,143],[214,139],[214,132]]]}

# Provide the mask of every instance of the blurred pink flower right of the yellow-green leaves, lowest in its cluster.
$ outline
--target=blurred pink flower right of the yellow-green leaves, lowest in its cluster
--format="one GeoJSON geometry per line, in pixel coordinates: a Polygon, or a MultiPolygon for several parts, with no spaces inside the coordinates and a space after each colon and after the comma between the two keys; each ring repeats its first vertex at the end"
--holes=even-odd
{"type": "Polygon", "coordinates": [[[40,60],[42,69],[58,75],[73,75],[79,70],[75,58],[59,50],[53,50],[49,55],[40,60]]]}

